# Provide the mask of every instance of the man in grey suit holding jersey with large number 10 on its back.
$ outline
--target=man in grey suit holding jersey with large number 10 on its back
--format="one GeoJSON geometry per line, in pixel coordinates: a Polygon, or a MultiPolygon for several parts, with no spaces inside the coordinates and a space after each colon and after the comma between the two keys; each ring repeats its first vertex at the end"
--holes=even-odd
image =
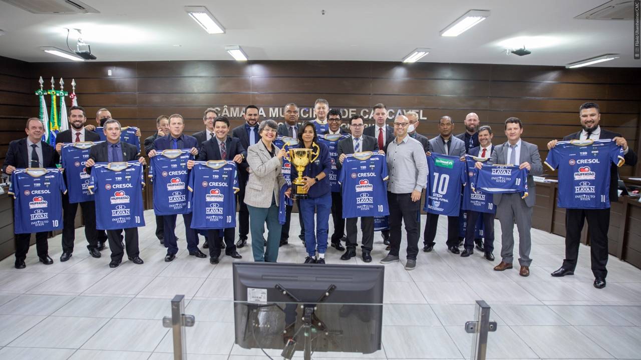
{"type": "MultiPolygon", "coordinates": [[[[454,122],[451,117],[445,115],[438,120],[438,131],[440,134],[429,140],[431,151],[435,154],[445,154],[461,157],[465,155],[465,143],[456,136],[452,135],[454,131],[454,122]]],[[[426,217],[425,231],[423,233],[423,251],[430,252],[435,245],[434,239],[437,236],[438,214],[428,213],[426,217]]],[[[459,254],[458,250],[458,215],[447,217],[447,250],[453,254],[459,254]]]]}

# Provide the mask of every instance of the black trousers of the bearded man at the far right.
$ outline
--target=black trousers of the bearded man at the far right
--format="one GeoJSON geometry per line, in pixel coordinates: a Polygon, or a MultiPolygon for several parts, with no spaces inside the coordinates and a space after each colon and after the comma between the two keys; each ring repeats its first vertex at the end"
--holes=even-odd
{"type": "Polygon", "coordinates": [[[565,259],[563,268],[574,271],[579,257],[581,229],[588,219],[590,258],[594,277],[606,277],[608,270],[608,228],[610,209],[565,209],[565,259]]]}

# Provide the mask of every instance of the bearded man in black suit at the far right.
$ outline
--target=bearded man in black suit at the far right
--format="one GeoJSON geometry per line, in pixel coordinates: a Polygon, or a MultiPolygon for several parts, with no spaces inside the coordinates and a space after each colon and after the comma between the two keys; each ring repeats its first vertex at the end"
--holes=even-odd
{"type": "MultiPolygon", "coordinates": [[[[572,133],[563,138],[566,140],[599,140],[613,139],[617,145],[623,147],[623,158],[626,165],[637,163],[637,154],[628,147],[628,142],[619,133],[613,133],[599,126],[601,111],[594,102],[585,102],[579,106],[579,121],[581,131],[572,133]]],[[[547,143],[547,149],[556,145],[556,140],[547,143]]],[[[618,193],[619,170],[615,165],[610,165],[610,201],[619,199],[618,193]]],[[[585,219],[588,220],[590,234],[590,260],[594,287],[597,289],[606,286],[605,278],[608,275],[608,227],[610,227],[610,208],[608,209],[565,209],[565,259],[563,265],[551,275],[560,277],[573,275],[579,256],[579,239],[585,219]]]]}

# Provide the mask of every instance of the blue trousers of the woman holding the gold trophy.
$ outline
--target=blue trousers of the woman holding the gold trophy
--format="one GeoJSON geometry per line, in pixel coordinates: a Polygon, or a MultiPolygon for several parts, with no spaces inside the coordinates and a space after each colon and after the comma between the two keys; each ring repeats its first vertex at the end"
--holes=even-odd
{"type": "Polygon", "coordinates": [[[327,250],[327,233],[329,231],[329,213],[331,213],[331,192],[319,197],[301,199],[301,214],[305,225],[305,248],[309,256],[325,254],[327,250]],[[314,226],[314,211],[316,211],[317,226],[314,226]],[[314,229],[316,233],[314,234],[314,229]]]}

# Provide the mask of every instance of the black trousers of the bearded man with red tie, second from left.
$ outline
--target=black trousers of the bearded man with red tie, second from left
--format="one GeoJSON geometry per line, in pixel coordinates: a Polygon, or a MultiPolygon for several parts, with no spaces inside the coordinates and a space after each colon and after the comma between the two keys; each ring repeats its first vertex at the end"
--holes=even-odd
{"type": "Polygon", "coordinates": [[[96,203],[93,201],[69,202],[69,195],[62,195],[62,251],[73,252],[74,241],[76,240],[76,213],[78,204],[82,210],[82,217],[85,220],[85,238],[87,238],[87,249],[98,247],[96,230],[96,203]]]}

